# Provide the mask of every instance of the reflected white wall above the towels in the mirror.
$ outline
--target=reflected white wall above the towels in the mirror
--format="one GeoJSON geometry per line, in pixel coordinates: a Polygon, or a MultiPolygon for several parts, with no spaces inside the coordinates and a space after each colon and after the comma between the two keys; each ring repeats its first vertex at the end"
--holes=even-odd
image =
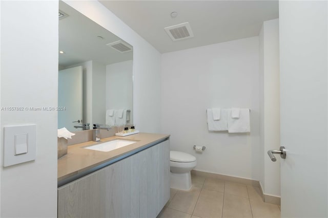
{"type": "Polygon", "coordinates": [[[131,124],[133,124],[132,68],[133,60],[106,66],[106,109],[129,109],[132,115],[131,124]]]}

